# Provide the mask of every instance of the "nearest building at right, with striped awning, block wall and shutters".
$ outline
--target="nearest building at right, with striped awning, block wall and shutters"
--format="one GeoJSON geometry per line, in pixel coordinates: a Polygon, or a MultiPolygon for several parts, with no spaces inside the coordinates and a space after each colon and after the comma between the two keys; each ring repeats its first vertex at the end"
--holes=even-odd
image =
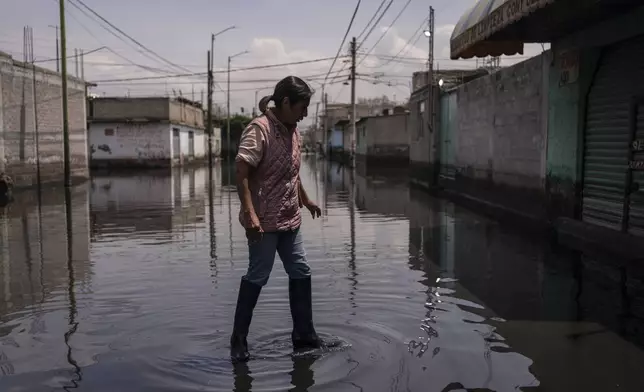
{"type": "Polygon", "coordinates": [[[488,3],[456,25],[453,59],[523,53],[529,42],[549,42],[552,50],[459,88],[454,117],[469,136],[452,137],[456,165],[479,184],[477,197],[491,197],[480,189],[531,194],[528,212],[541,211],[538,218],[555,223],[564,241],[641,254],[642,2],[497,1],[477,12],[488,3]],[[485,101],[495,102],[493,116],[485,101]]]}

